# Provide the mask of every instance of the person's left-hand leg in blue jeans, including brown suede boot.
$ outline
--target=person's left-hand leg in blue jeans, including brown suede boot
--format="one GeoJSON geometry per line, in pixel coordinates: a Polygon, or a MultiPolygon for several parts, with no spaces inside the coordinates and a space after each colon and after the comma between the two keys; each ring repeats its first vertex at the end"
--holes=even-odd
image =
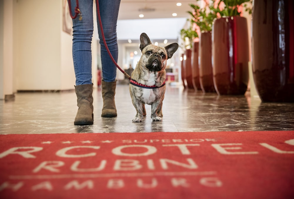
{"type": "MultiPolygon", "coordinates": [[[[76,1],[71,0],[71,10],[74,13],[76,1]]],[[[79,16],[73,19],[72,55],[76,75],[76,96],[78,111],[74,125],[93,124],[93,84],[92,84],[92,54],[91,41],[93,36],[93,0],[79,0],[79,16]]]]}

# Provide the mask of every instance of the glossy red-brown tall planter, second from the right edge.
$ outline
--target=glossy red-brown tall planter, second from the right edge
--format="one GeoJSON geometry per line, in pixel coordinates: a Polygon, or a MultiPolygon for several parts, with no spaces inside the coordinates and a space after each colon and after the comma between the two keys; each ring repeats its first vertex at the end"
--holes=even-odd
{"type": "Polygon", "coordinates": [[[249,80],[245,17],[215,19],[212,28],[213,80],[219,95],[244,95],[249,80]]]}

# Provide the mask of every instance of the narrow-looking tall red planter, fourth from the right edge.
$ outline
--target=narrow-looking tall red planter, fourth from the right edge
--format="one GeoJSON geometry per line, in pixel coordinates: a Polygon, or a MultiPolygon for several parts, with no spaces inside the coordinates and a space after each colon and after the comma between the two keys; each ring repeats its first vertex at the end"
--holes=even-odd
{"type": "Polygon", "coordinates": [[[192,83],[195,91],[201,90],[199,82],[199,65],[198,65],[198,56],[199,56],[199,42],[194,42],[193,52],[191,58],[192,65],[192,83]]]}

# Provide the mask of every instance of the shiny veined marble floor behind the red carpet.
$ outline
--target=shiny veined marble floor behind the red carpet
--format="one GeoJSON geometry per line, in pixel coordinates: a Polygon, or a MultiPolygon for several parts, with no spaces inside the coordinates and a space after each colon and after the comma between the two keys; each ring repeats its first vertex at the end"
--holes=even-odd
{"type": "Polygon", "coordinates": [[[141,123],[132,122],[136,111],[128,85],[117,85],[116,118],[101,118],[101,88],[93,97],[94,124],[74,126],[74,90],[16,93],[14,101],[0,101],[0,134],[294,130],[294,103],[262,103],[250,95],[218,96],[167,85],[163,121],[152,121],[146,105],[141,123]]]}

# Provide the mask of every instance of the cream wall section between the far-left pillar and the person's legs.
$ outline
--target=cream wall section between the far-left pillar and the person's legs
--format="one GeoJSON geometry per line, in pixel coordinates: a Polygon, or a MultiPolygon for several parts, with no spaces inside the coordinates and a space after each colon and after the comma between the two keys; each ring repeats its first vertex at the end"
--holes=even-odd
{"type": "Polygon", "coordinates": [[[61,0],[17,1],[17,90],[73,88],[72,37],[62,31],[62,6],[61,0]]]}

